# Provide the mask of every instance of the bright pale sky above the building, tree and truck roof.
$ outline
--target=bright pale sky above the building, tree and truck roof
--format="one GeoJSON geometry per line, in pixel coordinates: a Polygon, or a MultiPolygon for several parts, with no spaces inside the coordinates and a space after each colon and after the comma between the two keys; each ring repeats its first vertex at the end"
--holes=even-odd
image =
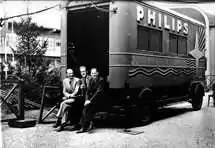
{"type": "MultiPolygon", "coordinates": [[[[0,17],[4,17],[4,12],[6,12],[6,16],[14,16],[18,14],[23,14],[27,12],[27,7],[29,7],[29,12],[35,12],[44,8],[48,8],[51,6],[54,6],[56,4],[59,4],[60,0],[47,0],[47,1],[29,1],[28,3],[26,1],[21,0],[9,0],[4,1],[0,0],[0,17]]],[[[165,3],[165,2],[156,2],[160,6],[168,6],[172,3],[165,3]]],[[[215,2],[211,3],[203,3],[203,4],[197,4],[201,9],[204,11],[214,14],[215,15],[215,2]]],[[[49,27],[49,28],[56,28],[60,29],[60,16],[61,11],[59,7],[56,7],[54,9],[48,10],[46,12],[42,12],[39,14],[32,15],[32,21],[36,22],[39,26],[49,27]]],[[[20,18],[14,19],[16,21],[20,20],[20,18]]]]}

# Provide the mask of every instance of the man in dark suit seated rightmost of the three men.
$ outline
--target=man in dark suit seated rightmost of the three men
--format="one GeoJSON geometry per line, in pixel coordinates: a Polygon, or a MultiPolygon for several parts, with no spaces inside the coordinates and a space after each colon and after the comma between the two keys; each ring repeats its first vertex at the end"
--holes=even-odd
{"type": "Polygon", "coordinates": [[[81,129],[77,133],[87,132],[93,128],[93,116],[101,107],[102,98],[104,97],[104,80],[99,77],[96,68],[91,69],[91,79],[86,92],[84,109],[81,119],[81,129]]]}

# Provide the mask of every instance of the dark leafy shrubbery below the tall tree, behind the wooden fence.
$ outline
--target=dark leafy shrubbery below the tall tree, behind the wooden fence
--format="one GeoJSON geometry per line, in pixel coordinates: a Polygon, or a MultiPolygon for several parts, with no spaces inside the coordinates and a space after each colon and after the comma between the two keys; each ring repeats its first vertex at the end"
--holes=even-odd
{"type": "Polygon", "coordinates": [[[36,100],[38,103],[40,103],[44,85],[60,86],[61,84],[60,68],[53,63],[50,63],[49,66],[41,65],[31,70],[28,67],[17,65],[13,71],[13,78],[23,79],[24,97],[36,100]]]}

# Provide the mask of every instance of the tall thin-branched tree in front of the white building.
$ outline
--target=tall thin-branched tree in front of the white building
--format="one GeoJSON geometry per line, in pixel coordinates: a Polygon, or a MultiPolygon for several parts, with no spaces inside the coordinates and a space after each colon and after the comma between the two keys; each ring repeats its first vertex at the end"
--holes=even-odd
{"type": "Polygon", "coordinates": [[[32,23],[32,18],[21,19],[14,23],[15,32],[18,36],[17,51],[21,65],[29,69],[29,72],[42,63],[42,56],[47,50],[47,40],[38,40],[39,27],[32,23]]]}

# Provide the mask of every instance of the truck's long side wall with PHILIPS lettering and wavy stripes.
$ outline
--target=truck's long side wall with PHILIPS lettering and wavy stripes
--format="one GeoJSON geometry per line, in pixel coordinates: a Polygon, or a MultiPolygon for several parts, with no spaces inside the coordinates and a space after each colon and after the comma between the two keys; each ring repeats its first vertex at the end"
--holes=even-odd
{"type": "MultiPolygon", "coordinates": [[[[188,53],[195,48],[196,34],[199,35],[199,50],[204,50],[204,26],[144,4],[118,2],[112,7],[118,7],[118,13],[110,16],[110,88],[123,88],[125,84],[130,88],[188,85],[196,76],[196,60],[188,56],[188,53]],[[137,22],[137,6],[143,7],[145,14],[139,22],[137,22]],[[148,23],[148,13],[155,14],[154,25],[148,23]],[[159,24],[159,15],[162,17],[162,24],[159,24]],[[175,22],[172,25],[175,26],[165,28],[165,17],[167,18],[166,27],[172,20],[175,22]],[[187,34],[183,31],[177,32],[177,20],[182,24],[187,23],[185,24],[188,25],[187,34]],[[160,49],[156,52],[149,51],[147,48],[139,49],[139,27],[161,32],[161,43],[157,43],[161,45],[161,51],[160,49]],[[182,36],[187,40],[186,54],[179,55],[171,52],[170,34],[182,36]]],[[[156,44],[155,40],[154,43],[156,44]]],[[[199,76],[204,76],[204,59],[199,62],[198,72],[199,76]]]]}

